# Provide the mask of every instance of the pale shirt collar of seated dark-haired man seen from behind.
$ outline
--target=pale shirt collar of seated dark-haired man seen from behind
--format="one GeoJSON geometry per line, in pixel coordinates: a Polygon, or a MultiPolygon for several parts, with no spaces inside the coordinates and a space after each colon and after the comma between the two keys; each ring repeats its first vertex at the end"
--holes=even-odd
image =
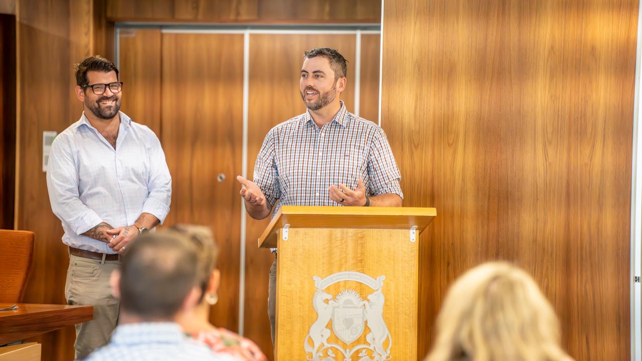
{"type": "Polygon", "coordinates": [[[185,334],[176,322],[141,322],[121,324],[114,331],[111,344],[178,344],[185,334]]]}

